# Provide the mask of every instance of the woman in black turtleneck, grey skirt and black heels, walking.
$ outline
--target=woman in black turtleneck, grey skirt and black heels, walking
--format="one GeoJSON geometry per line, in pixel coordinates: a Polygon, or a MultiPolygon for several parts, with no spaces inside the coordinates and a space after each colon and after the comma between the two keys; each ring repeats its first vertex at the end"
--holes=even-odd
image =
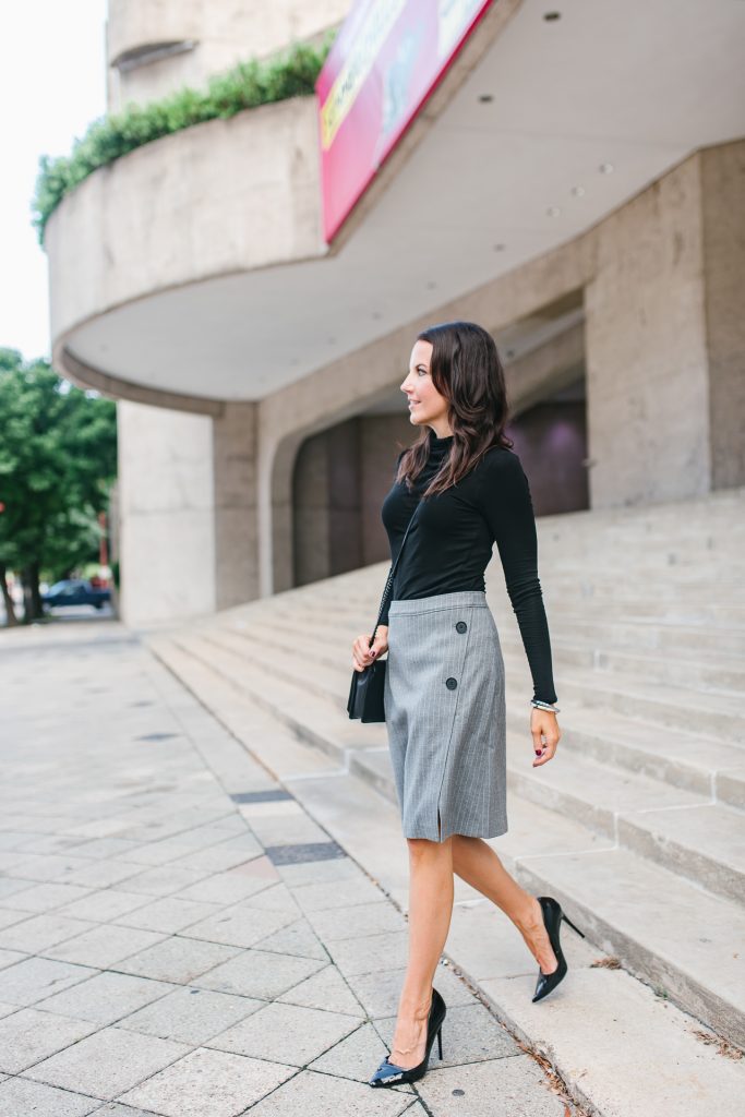
{"type": "Polygon", "coordinates": [[[389,652],[385,722],[410,862],[409,963],[393,1046],[371,1086],[421,1078],[436,1037],[442,1054],[446,1006],[432,980],[453,872],[523,935],[539,966],[534,1001],[566,973],[561,906],[520,888],[484,841],[507,830],[504,660],[484,581],[495,541],[533,676],[534,767],[553,758],[561,737],[535,517],[504,433],[505,378],[493,337],[470,322],[422,331],[401,390],[422,432],[399,455],[382,505],[393,560],[414,509],[417,518],[374,642],[367,634],[353,645],[356,670],[389,652]]]}

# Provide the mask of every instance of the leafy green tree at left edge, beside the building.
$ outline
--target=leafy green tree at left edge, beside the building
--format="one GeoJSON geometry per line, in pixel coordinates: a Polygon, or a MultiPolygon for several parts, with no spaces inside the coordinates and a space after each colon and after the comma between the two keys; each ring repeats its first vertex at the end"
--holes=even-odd
{"type": "Polygon", "coordinates": [[[42,613],[39,579],[95,556],[116,475],[116,405],[63,380],[44,360],[0,349],[0,590],[20,572],[26,623],[42,613]]]}

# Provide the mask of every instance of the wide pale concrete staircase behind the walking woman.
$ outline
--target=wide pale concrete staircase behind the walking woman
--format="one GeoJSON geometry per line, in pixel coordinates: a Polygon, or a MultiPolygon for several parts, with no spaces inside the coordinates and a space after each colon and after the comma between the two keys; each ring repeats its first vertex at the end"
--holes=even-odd
{"type": "MultiPolygon", "coordinates": [[[[745,489],[730,489],[538,521],[562,728],[556,758],[538,768],[531,678],[496,548],[487,572],[508,709],[510,829],[494,848],[526,888],[561,900],[589,946],[738,1047],[744,513],[745,489]]],[[[284,743],[249,734],[248,747],[405,906],[404,868],[397,862],[384,879],[388,862],[373,848],[383,825],[381,849],[403,844],[385,729],[345,713],[351,643],[374,619],[386,570],[375,564],[147,640],[228,723],[236,704],[271,716],[284,743]]],[[[458,923],[475,895],[467,886],[457,894],[448,951],[489,996],[478,944],[458,923]]],[[[493,1003],[531,1038],[507,986],[493,1003]]]]}

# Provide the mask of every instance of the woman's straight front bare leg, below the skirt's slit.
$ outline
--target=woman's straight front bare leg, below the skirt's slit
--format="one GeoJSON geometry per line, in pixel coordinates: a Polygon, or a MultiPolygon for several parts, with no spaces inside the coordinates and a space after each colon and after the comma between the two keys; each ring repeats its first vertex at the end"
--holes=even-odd
{"type": "Polygon", "coordinates": [[[409,838],[409,963],[389,1059],[409,1070],[424,1058],[432,980],[452,916],[452,839],[409,838]]]}

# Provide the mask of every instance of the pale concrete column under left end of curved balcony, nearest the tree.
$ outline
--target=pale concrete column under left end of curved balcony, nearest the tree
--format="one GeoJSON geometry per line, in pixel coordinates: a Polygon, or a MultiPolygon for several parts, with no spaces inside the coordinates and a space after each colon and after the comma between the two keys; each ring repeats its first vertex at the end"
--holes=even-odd
{"type": "Polygon", "coordinates": [[[258,595],[256,404],[219,418],[120,400],[121,615],[179,621],[258,595]]]}

